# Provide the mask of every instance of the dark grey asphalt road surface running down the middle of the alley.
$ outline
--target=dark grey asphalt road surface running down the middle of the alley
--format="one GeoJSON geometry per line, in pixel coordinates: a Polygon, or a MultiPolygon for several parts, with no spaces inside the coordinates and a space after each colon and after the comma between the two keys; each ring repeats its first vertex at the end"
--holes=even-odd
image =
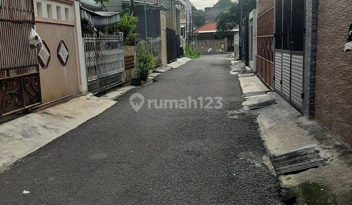
{"type": "Polygon", "coordinates": [[[119,97],[0,173],[0,204],[280,204],[255,116],[229,116],[244,101],[229,65],[203,56],[119,97]],[[138,112],[133,93],[145,97],[138,112]],[[189,96],[219,96],[223,107],[148,109],[149,99],[189,96]]]}

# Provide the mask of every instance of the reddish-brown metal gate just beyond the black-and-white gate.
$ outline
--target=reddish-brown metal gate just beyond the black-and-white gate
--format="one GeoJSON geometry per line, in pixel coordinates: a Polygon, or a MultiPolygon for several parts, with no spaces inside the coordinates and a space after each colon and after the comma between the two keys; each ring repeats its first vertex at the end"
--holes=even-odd
{"type": "Polygon", "coordinates": [[[257,74],[271,89],[273,88],[274,61],[274,8],[270,6],[257,19],[257,74]]]}

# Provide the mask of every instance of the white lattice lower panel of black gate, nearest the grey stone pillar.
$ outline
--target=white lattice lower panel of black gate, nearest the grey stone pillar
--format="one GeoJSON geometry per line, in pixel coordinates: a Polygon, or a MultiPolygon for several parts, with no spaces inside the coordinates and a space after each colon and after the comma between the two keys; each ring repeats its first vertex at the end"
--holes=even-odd
{"type": "Polygon", "coordinates": [[[302,109],[303,53],[292,54],[291,58],[291,102],[302,109]]]}

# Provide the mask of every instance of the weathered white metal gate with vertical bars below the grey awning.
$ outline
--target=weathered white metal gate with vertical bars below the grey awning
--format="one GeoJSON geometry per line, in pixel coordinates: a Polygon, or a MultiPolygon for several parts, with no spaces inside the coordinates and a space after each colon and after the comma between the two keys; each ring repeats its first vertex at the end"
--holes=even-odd
{"type": "Polygon", "coordinates": [[[123,34],[83,36],[88,91],[93,94],[125,82],[123,34]]]}

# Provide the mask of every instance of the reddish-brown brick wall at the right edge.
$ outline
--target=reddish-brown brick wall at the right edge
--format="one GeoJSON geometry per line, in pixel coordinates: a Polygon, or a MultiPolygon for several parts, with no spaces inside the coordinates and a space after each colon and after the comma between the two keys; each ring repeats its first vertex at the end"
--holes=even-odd
{"type": "Polygon", "coordinates": [[[352,22],[352,0],[319,0],[315,119],[352,147],[352,52],[341,52],[352,22]]]}

